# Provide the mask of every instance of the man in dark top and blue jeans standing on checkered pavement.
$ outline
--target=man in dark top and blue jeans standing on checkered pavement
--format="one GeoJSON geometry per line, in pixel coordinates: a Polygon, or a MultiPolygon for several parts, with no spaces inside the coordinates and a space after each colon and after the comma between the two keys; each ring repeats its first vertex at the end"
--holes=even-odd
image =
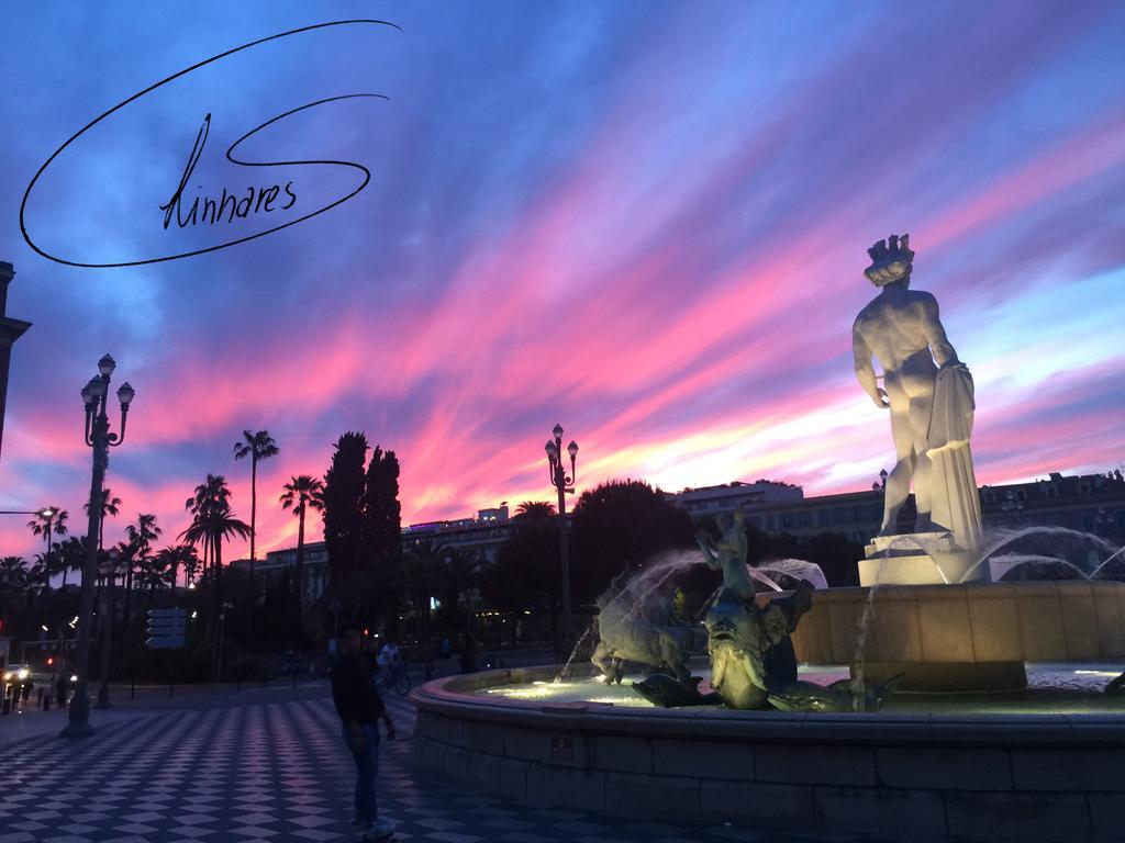
{"type": "Polygon", "coordinates": [[[345,624],[340,631],[340,656],[332,665],[332,701],[340,715],[344,744],[356,761],[354,825],[363,826],[363,840],[384,841],[394,834],[395,825],[380,819],[375,798],[375,777],[379,770],[379,727],[387,726],[387,740],[395,737],[395,724],[382,705],[372,681],[372,665],[363,658],[363,637],[359,626],[345,624]]]}

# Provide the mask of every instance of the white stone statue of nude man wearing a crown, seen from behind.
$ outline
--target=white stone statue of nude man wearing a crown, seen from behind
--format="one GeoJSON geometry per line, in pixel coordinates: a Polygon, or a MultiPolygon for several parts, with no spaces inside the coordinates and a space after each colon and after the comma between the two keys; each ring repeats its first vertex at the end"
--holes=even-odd
{"type": "Polygon", "coordinates": [[[886,478],[881,535],[896,533],[912,480],[915,532],[942,527],[970,546],[980,534],[980,500],[969,454],[972,379],[945,336],[937,300],[910,289],[915,253],[909,241],[907,234],[891,235],[867,250],[872,263],[864,274],[880,292],[852,328],[855,375],[875,406],[890,410],[894,439],[897,462],[886,478]],[[872,355],[883,368],[882,388],[872,355]],[[936,455],[940,462],[935,472],[936,455]]]}

